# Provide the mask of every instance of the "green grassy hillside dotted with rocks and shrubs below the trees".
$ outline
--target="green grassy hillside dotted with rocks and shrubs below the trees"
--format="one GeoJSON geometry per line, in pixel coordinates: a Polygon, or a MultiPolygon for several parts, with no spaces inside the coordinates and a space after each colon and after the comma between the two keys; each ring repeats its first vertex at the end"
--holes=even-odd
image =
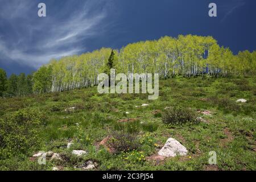
{"type": "Polygon", "coordinates": [[[98,94],[96,87],[1,99],[0,170],[79,170],[88,160],[97,163],[95,170],[256,169],[256,77],[178,77],[160,81],[159,89],[155,101],[147,94],[98,94]],[[240,98],[247,102],[236,102],[240,98]],[[177,110],[180,118],[168,123],[177,110]],[[100,146],[121,134],[122,144],[107,142],[115,152],[100,146]],[[188,155],[154,160],[170,137],[188,155]],[[39,165],[31,158],[38,151],[57,152],[62,160],[39,165]],[[217,153],[216,166],[208,164],[210,151],[217,153]]]}

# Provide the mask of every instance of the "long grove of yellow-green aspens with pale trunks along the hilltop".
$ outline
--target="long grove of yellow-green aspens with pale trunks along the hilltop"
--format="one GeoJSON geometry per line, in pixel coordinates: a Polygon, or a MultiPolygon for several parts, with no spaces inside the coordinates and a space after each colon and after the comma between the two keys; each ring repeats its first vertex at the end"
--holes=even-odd
{"type": "MultiPolygon", "coordinates": [[[[114,49],[113,67],[117,73],[159,73],[175,76],[229,77],[251,75],[256,71],[256,51],[233,55],[220,47],[212,36],[164,36],[159,40],[128,44],[114,49]]],[[[101,48],[80,56],[51,60],[33,75],[33,92],[61,92],[97,85],[97,76],[108,69],[111,48],[101,48]]]]}

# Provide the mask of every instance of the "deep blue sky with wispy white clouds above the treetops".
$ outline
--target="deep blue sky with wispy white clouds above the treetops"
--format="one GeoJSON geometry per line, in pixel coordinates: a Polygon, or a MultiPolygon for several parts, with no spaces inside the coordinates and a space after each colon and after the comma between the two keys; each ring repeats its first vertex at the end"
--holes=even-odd
{"type": "Polygon", "coordinates": [[[0,0],[0,68],[30,73],[52,58],[179,34],[256,49],[255,0],[0,0]],[[47,17],[38,17],[38,3],[47,17]],[[217,17],[208,5],[217,4],[217,17]]]}

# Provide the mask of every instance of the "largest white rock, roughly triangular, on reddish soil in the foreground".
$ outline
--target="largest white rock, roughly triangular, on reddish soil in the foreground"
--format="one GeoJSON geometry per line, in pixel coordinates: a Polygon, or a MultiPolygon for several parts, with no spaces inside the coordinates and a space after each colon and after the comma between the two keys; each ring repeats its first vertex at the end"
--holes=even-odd
{"type": "Polygon", "coordinates": [[[176,155],[187,155],[188,151],[180,142],[174,138],[169,138],[163,148],[158,152],[158,155],[166,157],[174,157],[176,155]]]}

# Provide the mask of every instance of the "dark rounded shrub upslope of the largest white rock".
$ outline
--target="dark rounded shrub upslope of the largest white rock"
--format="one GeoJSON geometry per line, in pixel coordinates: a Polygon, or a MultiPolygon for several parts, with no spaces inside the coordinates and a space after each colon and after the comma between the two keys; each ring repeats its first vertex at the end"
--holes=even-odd
{"type": "Polygon", "coordinates": [[[164,111],[163,122],[166,124],[196,123],[197,114],[189,108],[171,107],[164,111]]]}

